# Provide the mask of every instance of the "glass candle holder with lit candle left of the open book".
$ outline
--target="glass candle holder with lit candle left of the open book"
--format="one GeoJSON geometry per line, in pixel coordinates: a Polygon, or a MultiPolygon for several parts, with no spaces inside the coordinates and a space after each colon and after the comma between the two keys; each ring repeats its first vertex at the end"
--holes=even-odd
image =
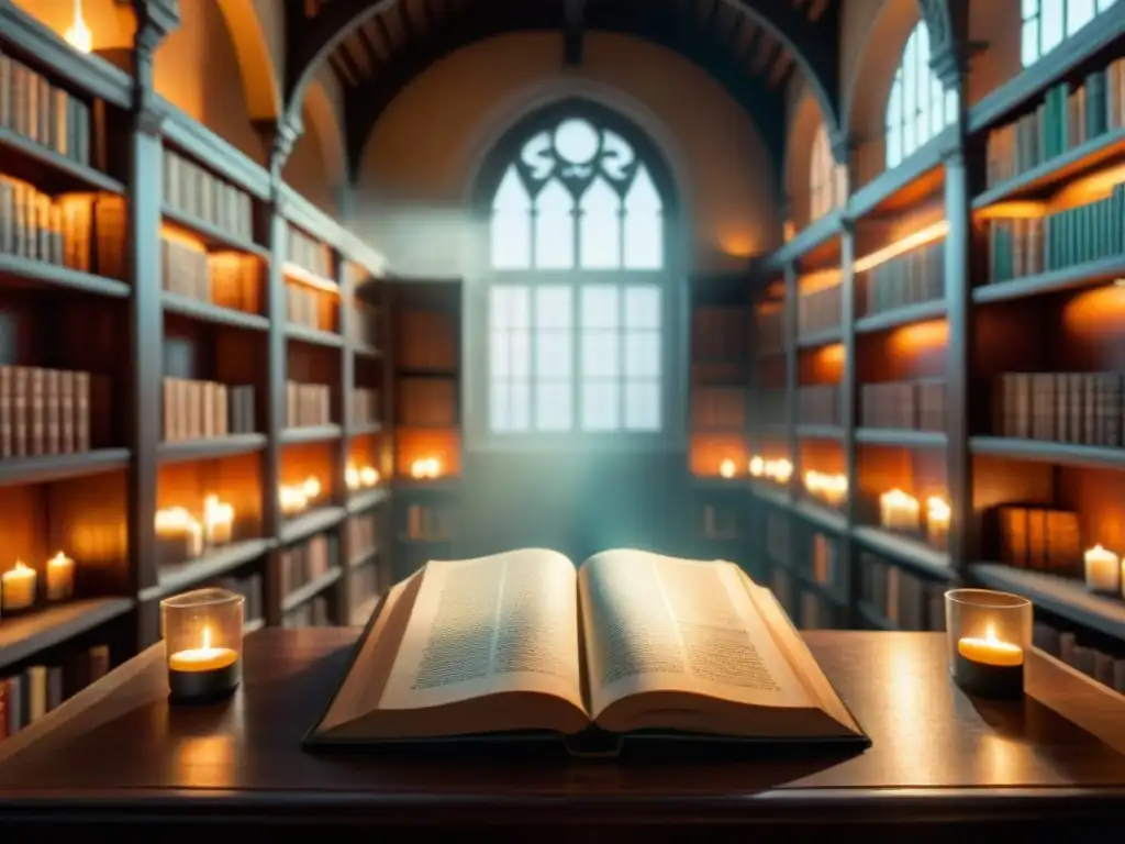
{"type": "Polygon", "coordinates": [[[225,589],[199,589],[160,602],[173,703],[220,700],[242,682],[245,599],[225,589]]]}

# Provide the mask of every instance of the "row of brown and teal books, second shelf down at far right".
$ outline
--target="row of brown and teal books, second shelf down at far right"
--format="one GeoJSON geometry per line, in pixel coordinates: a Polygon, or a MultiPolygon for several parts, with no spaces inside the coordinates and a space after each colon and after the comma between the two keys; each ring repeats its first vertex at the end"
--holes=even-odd
{"type": "Polygon", "coordinates": [[[1108,197],[1042,217],[988,221],[989,282],[1125,253],[1125,185],[1108,197]]]}

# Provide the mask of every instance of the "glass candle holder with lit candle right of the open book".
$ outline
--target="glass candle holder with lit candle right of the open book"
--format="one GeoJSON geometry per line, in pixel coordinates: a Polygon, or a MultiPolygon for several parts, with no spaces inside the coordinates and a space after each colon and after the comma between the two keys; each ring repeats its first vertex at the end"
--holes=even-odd
{"type": "Polygon", "coordinates": [[[953,681],[981,698],[1023,697],[1032,621],[1032,602],[1026,598],[987,589],[946,592],[945,629],[953,681]]]}

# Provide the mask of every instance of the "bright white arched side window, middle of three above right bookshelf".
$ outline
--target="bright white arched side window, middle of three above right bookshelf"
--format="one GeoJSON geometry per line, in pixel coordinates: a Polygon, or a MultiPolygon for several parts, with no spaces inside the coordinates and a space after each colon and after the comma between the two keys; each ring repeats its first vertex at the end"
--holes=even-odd
{"type": "Polygon", "coordinates": [[[886,100],[886,167],[897,167],[953,123],[956,91],[945,90],[929,66],[929,29],[920,20],[907,38],[886,100]]]}

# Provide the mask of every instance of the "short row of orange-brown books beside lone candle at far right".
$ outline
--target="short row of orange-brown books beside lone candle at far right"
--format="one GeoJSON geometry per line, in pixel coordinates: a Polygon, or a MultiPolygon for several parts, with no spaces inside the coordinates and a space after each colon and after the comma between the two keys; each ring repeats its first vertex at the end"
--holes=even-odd
{"type": "Polygon", "coordinates": [[[1081,575],[1081,532],[1076,513],[1005,504],[996,508],[994,518],[1001,563],[1064,576],[1081,575]]]}

